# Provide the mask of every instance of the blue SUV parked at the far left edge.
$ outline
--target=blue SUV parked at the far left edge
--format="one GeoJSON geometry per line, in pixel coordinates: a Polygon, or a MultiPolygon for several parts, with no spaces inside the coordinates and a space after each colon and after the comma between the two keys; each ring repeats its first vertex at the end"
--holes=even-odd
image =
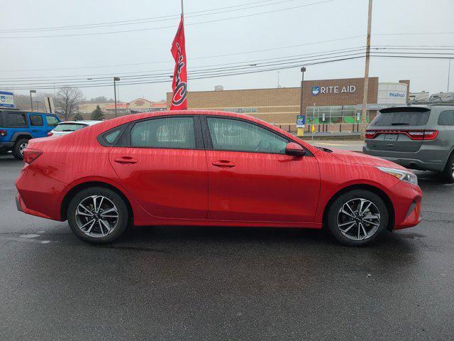
{"type": "Polygon", "coordinates": [[[13,156],[22,160],[28,140],[48,136],[60,121],[56,114],[1,109],[0,153],[13,151],[13,156]]]}

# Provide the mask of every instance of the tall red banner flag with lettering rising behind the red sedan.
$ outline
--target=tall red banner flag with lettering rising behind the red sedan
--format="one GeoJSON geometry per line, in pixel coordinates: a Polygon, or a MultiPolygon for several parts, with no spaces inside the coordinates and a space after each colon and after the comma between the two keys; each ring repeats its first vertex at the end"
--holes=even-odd
{"type": "Polygon", "coordinates": [[[179,21],[178,31],[172,43],[173,59],[175,59],[175,71],[172,81],[172,104],[170,110],[187,109],[187,61],[186,48],[184,48],[183,16],[179,21]]]}

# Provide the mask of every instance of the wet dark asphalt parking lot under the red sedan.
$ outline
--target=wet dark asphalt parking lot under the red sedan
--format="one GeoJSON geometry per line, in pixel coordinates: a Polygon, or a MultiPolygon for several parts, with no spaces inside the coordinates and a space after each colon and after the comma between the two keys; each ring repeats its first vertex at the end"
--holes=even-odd
{"type": "Polygon", "coordinates": [[[454,185],[373,247],[306,229],[136,227],[92,247],[16,211],[0,156],[1,340],[454,340],[454,185]]]}

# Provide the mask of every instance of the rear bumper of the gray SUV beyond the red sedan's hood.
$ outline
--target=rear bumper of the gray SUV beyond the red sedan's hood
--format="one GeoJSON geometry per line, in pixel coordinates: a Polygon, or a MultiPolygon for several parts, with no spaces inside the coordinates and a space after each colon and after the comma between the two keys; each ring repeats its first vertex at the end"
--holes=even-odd
{"type": "Polygon", "coordinates": [[[433,155],[428,156],[428,151],[418,151],[416,153],[402,153],[396,151],[374,151],[367,146],[362,147],[362,152],[371,155],[384,158],[385,160],[397,163],[405,168],[416,169],[420,171],[438,171],[441,172],[445,168],[446,161],[444,160],[444,154],[446,159],[448,158],[449,152],[443,153],[443,160],[433,162],[433,155]]]}

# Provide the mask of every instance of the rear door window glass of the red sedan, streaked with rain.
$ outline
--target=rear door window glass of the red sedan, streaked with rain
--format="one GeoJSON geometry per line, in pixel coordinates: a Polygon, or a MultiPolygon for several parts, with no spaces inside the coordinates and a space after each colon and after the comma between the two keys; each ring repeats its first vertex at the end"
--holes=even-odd
{"type": "Polygon", "coordinates": [[[194,119],[171,117],[138,122],[131,129],[131,146],[194,149],[194,119]]]}

